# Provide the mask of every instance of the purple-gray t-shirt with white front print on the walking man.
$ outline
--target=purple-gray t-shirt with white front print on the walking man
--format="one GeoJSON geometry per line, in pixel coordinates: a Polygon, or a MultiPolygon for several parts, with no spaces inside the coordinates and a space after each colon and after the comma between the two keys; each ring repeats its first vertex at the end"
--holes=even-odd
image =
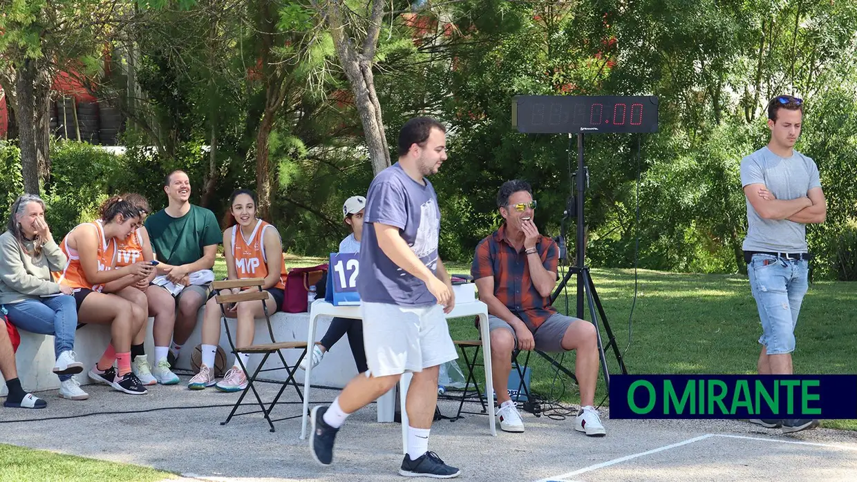
{"type": "Polygon", "coordinates": [[[360,247],[358,291],[362,301],[402,306],[432,306],[437,303],[425,283],[399,268],[378,247],[374,223],[399,228],[414,254],[433,273],[437,269],[440,208],[428,179],[426,185],[411,179],[393,164],[381,171],[369,186],[363,240],[360,247]]]}

